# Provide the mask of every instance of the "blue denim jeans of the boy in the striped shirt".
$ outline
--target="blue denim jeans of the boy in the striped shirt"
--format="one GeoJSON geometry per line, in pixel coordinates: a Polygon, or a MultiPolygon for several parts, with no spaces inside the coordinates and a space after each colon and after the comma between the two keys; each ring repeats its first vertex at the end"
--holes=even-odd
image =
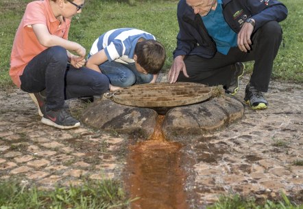
{"type": "Polygon", "coordinates": [[[103,74],[108,76],[112,85],[119,87],[149,83],[154,77],[152,74],[138,72],[135,64],[121,64],[117,61],[106,61],[99,65],[99,68],[103,74]]]}

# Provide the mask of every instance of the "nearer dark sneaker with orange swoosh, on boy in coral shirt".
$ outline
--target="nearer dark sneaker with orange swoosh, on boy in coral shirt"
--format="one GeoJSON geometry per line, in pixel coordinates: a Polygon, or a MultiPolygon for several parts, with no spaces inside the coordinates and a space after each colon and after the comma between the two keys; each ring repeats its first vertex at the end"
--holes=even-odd
{"type": "Polygon", "coordinates": [[[80,126],[80,122],[71,117],[66,109],[60,109],[58,111],[46,111],[43,115],[41,122],[49,126],[54,126],[60,129],[76,128],[80,126]]]}

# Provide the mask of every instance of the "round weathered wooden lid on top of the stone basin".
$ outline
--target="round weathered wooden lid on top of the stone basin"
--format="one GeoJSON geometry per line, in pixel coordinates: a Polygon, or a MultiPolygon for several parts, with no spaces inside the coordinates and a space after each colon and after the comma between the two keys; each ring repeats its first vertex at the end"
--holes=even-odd
{"type": "Polygon", "coordinates": [[[211,87],[200,83],[147,83],[114,92],[112,100],[134,107],[177,107],[202,102],[211,94],[211,87]]]}

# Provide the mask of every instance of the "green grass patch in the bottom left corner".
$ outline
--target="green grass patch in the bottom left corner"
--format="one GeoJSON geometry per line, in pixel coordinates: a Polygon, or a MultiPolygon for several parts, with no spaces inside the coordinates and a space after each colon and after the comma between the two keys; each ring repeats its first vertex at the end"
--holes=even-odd
{"type": "Polygon", "coordinates": [[[42,191],[17,182],[0,182],[1,209],[10,208],[128,208],[121,186],[113,180],[90,180],[82,186],[42,191]]]}

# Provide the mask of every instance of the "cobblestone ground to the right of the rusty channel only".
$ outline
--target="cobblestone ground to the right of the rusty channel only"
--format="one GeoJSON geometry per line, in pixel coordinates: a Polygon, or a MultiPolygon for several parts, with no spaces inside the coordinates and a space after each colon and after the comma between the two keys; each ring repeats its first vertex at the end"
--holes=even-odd
{"type": "MultiPolygon", "coordinates": [[[[242,79],[236,96],[241,101],[247,82],[242,79]]],[[[190,145],[194,205],[227,191],[257,199],[277,199],[283,191],[303,204],[303,87],[274,81],[265,97],[269,109],[245,107],[241,120],[190,145]]]]}

